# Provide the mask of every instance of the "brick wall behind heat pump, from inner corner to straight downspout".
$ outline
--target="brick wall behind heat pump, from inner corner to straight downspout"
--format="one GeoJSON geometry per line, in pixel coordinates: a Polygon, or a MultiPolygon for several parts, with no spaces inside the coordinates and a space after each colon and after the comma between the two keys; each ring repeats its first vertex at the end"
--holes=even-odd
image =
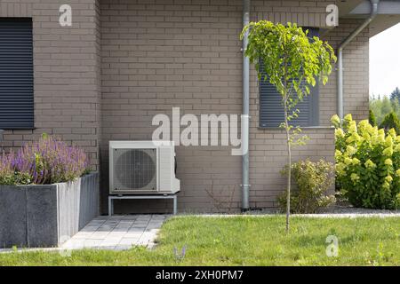
{"type": "MultiPolygon", "coordinates": [[[[151,139],[155,114],[240,114],[242,1],[100,1],[104,185],[108,141],[151,139]]],[[[241,159],[230,147],[177,147],[180,210],[240,206],[241,159]]],[[[104,196],[108,187],[104,186],[104,196]]],[[[104,204],[105,202],[103,202],[104,204]]],[[[124,201],[126,209],[167,202],[124,201]],[[140,206],[141,205],[141,206],[140,206]]],[[[121,204],[123,205],[123,204],[121,204]]],[[[116,209],[122,209],[119,204],[116,209]]]]}

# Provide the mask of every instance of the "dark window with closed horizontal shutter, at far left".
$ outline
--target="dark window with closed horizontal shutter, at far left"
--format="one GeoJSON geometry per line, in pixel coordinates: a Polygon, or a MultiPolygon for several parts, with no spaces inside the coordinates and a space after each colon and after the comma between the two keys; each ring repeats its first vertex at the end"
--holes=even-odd
{"type": "Polygon", "coordinates": [[[32,20],[0,18],[0,129],[32,128],[32,20]]]}

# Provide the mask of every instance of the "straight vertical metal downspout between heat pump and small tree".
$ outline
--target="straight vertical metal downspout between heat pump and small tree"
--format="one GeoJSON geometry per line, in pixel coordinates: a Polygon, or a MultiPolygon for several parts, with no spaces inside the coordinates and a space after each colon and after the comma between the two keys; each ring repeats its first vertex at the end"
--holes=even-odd
{"type": "MultiPolygon", "coordinates": [[[[250,0],[243,0],[243,26],[250,22],[250,0]]],[[[250,60],[244,55],[247,48],[247,33],[243,38],[243,115],[242,115],[242,210],[249,207],[249,93],[250,93],[250,60]]]]}

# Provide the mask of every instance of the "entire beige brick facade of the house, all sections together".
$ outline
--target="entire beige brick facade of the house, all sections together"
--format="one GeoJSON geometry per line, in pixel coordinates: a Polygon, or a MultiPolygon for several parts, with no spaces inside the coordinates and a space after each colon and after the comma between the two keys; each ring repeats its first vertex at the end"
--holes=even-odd
{"type": "MultiPolygon", "coordinates": [[[[42,132],[84,146],[100,162],[107,209],[108,141],[150,139],[155,114],[241,114],[242,0],[82,0],[70,2],[73,27],[61,28],[63,1],[0,0],[1,17],[32,17],[36,130],[9,130],[1,146],[20,146],[42,132]],[[101,75],[100,75],[101,73],[101,75]],[[100,146],[100,156],[98,153],[100,146]]],[[[296,21],[324,28],[327,1],[252,1],[252,20],[296,21]]],[[[340,21],[324,34],[334,47],[357,25],[340,21]]],[[[345,60],[345,112],[368,111],[368,33],[350,43],[345,60]]],[[[284,189],[281,130],[258,129],[258,86],[251,82],[251,206],[273,207],[284,189]]],[[[320,92],[320,124],[295,159],[332,161],[336,75],[320,92]]],[[[183,127],[182,127],[183,129],[183,127]]],[[[177,147],[180,211],[240,209],[241,157],[230,147],[177,147]],[[210,196],[214,195],[214,198],[210,196]],[[221,204],[218,204],[221,201],[221,204]]],[[[167,211],[168,201],[116,202],[116,211],[167,211]]]]}

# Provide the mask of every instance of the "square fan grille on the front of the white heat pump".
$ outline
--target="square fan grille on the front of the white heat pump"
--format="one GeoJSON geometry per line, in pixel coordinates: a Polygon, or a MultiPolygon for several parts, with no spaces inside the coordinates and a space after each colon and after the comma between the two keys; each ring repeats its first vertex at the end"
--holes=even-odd
{"type": "Polygon", "coordinates": [[[156,190],[156,149],[115,149],[116,190],[156,190]]]}

